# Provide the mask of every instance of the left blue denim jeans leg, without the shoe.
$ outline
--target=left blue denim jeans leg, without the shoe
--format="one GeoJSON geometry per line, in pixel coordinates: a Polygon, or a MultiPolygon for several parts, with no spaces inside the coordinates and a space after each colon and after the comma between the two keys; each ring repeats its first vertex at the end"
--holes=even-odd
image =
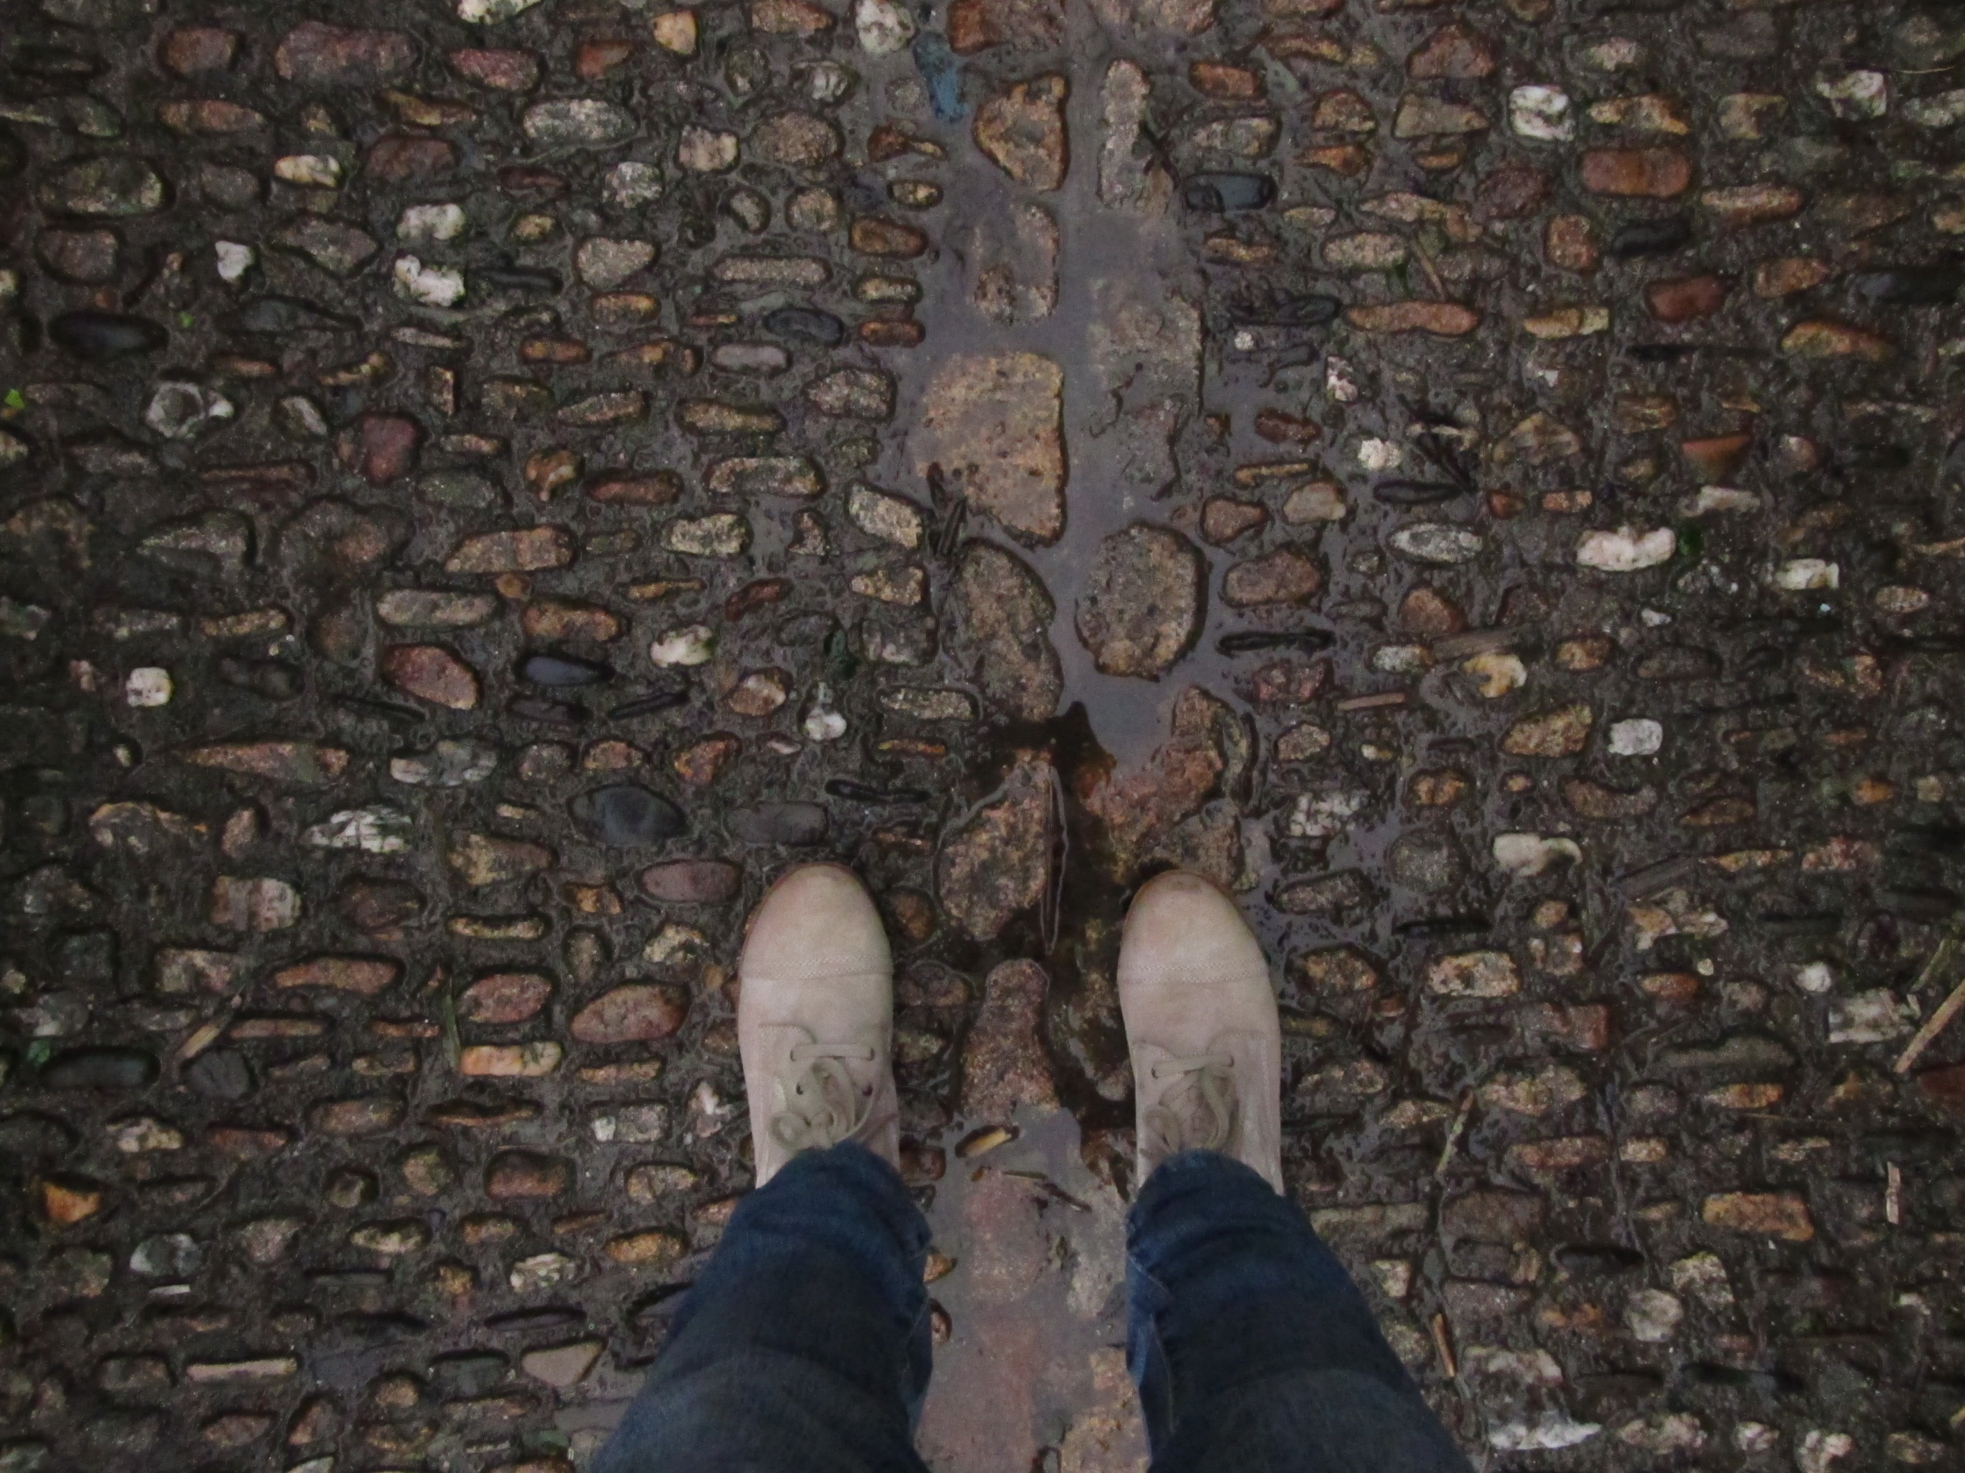
{"type": "Polygon", "coordinates": [[[747,1196],[593,1473],[922,1473],[927,1224],[861,1145],[747,1196]]]}

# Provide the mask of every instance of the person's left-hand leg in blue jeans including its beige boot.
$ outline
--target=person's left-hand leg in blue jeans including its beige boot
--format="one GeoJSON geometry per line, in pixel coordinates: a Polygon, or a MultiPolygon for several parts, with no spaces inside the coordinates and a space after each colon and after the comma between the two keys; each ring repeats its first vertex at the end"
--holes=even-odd
{"type": "Polygon", "coordinates": [[[851,872],[751,917],[737,1045],[747,1196],[593,1473],[924,1473],[927,1224],[902,1186],[894,966],[851,872]]]}

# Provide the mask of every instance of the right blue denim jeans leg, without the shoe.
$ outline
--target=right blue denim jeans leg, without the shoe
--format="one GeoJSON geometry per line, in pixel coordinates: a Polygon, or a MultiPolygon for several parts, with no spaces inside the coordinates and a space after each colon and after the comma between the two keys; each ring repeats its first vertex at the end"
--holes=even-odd
{"type": "Polygon", "coordinates": [[[1126,1251],[1153,1473],[1466,1473],[1344,1265],[1240,1161],[1167,1159],[1126,1251]]]}

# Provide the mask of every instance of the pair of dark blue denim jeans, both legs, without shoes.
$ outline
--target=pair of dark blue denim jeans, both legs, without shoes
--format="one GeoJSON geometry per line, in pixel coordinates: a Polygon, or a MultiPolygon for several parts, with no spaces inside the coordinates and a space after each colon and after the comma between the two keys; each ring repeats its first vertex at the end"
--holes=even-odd
{"type": "MultiPolygon", "coordinates": [[[[1468,1473],[1303,1212],[1189,1151],[1126,1220],[1153,1473],[1468,1473]]],[[[859,1145],[747,1196],[593,1473],[926,1473],[927,1224],[859,1145]]]]}

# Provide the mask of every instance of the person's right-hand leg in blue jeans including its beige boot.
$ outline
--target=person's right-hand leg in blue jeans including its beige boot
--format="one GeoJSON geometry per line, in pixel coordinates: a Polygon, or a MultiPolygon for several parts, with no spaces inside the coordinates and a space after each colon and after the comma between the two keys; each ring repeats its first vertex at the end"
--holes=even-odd
{"type": "Polygon", "coordinates": [[[1126,1224],[1153,1473],[1464,1473],[1344,1267],[1283,1196],[1283,1043],[1262,943],[1201,876],[1126,915],[1140,1200],[1126,1224]]]}

